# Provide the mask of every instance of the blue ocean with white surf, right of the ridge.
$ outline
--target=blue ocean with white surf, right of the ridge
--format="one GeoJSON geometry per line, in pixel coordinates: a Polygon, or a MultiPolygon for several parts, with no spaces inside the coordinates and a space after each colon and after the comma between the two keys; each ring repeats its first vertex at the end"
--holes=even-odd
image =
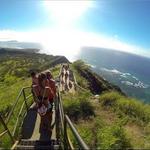
{"type": "Polygon", "coordinates": [[[150,102],[149,58],[96,47],[83,47],[79,58],[129,96],[150,102]]]}

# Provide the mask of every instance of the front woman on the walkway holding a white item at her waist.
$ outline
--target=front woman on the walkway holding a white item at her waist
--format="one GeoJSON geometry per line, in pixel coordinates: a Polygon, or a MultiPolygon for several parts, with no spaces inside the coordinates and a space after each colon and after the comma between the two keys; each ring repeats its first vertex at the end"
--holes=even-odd
{"type": "Polygon", "coordinates": [[[38,86],[34,93],[38,99],[38,113],[41,116],[40,131],[48,130],[51,133],[52,108],[50,101],[54,97],[53,91],[47,86],[48,80],[44,73],[38,76],[38,86]]]}

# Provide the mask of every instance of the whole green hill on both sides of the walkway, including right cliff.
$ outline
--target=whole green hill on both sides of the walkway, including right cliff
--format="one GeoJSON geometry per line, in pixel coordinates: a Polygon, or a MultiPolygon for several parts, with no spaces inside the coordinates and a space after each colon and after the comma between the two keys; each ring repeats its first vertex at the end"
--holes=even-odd
{"type": "MultiPolygon", "coordinates": [[[[59,64],[66,62],[63,56],[0,50],[2,116],[7,117],[21,87],[31,85],[31,70],[50,68],[57,76],[59,64]]],[[[87,145],[91,149],[150,149],[150,105],[127,97],[81,60],[70,64],[70,68],[78,86],[75,94],[62,93],[63,105],[87,145]]]]}

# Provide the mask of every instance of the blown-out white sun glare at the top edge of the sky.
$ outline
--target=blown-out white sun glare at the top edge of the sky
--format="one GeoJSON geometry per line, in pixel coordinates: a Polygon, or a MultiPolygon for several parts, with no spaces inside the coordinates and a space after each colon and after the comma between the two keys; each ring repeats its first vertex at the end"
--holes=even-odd
{"type": "Polygon", "coordinates": [[[48,11],[53,23],[59,27],[73,25],[79,17],[91,6],[92,1],[44,1],[44,7],[48,11]]]}

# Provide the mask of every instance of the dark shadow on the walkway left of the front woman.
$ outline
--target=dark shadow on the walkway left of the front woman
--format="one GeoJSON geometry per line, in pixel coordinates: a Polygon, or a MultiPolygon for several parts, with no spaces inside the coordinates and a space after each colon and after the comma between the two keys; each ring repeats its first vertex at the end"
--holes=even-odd
{"type": "Polygon", "coordinates": [[[24,118],[23,126],[22,126],[22,138],[29,139],[33,134],[33,130],[35,127],[37,118],[37,111],[34,109],[30,109],[24,118]]]}

